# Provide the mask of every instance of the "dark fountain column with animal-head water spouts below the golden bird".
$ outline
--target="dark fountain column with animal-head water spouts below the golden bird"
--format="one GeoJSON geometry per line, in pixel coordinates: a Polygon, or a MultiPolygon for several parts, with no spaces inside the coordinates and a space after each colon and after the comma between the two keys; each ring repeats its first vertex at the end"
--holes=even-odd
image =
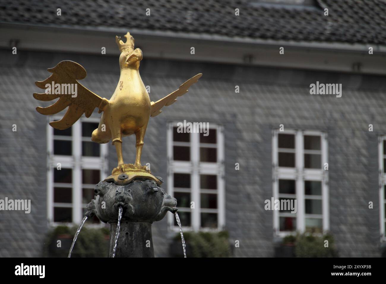
{"type": "Polygon", "coordinates": [[[86,216],[95,214],[110,224],[109,257],[154,257],[151,224],[168,211],[177,211],[177,200],[160,187],[162,178],[157,180],[159,184],[137,178],[120,184],[102,181],[95,186],[96,196],[86,216]]]}

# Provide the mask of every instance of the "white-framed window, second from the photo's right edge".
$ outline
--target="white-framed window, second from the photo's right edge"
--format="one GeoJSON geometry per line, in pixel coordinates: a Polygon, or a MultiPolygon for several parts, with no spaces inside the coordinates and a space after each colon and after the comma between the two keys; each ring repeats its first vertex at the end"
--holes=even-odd
{"type": "Polygon", "coordinates": [[[276,235],[323,233],[328,223],[327,134],[273,131],[274,200],[296,199],[296,213],[274,211],[276,235]]]}

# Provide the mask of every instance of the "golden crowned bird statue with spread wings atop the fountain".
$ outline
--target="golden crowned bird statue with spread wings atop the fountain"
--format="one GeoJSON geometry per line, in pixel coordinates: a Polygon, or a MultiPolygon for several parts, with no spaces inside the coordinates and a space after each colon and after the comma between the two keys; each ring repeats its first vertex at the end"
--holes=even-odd
{"type": "MultiPolygon", "coordinates": [[[[156,102],[150,101],[149,94],[139,75],[139,64],[142,60],[142,51],[139,48],[134,49],[134,38],[129,32],[125,35],[124,43],[120,37],[116,36],[115,41],[120,50],[119,67],[120,78],[115,91],[110,100],[102,98],[81,85],[77,80],[86,77],[86,70],[78,63],[73,61],[61,61],[54,68],[47,71],[52,75],[44,81],[35,82],[37,87],[46,89],[42,94],[34,93],[34,98],[41,101],[49,101],[59,98],[49,107],[37,107],[40,114],[52,115],[68,110],[59,121],[53,121],[49,124],[56,129],[67,129],[73,125],[82,115],[90,117],[95,108],[98,112],[103,112],[99,126],[92,133],[91,140],[97,143],[108,143],[110,140],[115,146],[118,158],[118,167],[113,170],[112,176],[116,182],[119,173],[127,173],[129,182],[141,175],[149,177],[150,171],[141,165],[141,153],[144,145],[144,136],[150,117],[157,116],[162,111],[162,107],[173,104],[177,97],[186,94],[189,87],[198,81],[202,73],[195,75],[183,83],[177,90],[156,102]],[[62,86],[63,84],[76,85],[76,95],[68,92],[47,92],[49,86],[62,86]],[[53,93],[53,94],[52,94],[53,93]],[[65,94],[63,94],[65,93],[65,94]],[[135,163],[124,164],[122,158],[122,137],[135,134],[136,138],[136,156],[135,163]],[[148,172],[148,173],[146,173],[148,172]]],[[[153,180],[159,181],[154,176],[153,180]]]]}

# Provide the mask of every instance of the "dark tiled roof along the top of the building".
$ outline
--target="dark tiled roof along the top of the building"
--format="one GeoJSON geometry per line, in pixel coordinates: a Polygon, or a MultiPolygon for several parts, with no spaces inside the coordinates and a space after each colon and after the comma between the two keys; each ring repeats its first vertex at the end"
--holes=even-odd
{"type": "Polygon", "coordinates": [[[0,0],[0,22],[337,43],[386,43],[383,0],[0,0]],[[294,2],[294,1],[292,1],[294,2]],[[56,9],[61,9],[61,16],[56,9]],[[150,9],[150,16],[146,9],[150,9]],[[235,9],[240,15],[235,15],[235,9]],[[324,9],[328,9],[328,16],[324,9]]]}

